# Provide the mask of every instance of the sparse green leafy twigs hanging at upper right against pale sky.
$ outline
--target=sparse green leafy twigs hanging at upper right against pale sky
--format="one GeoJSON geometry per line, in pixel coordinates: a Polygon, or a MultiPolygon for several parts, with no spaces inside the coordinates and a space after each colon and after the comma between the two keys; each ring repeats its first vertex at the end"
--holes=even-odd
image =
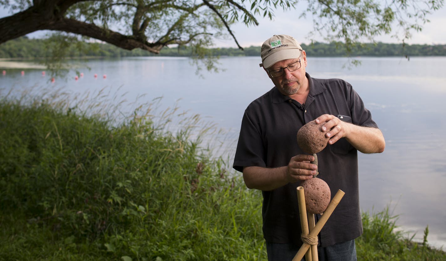
{"type": "Polygon", "coordinates": [[[375,37],[391,35],[397,41],[411,38],[420,32],[428,16],[444,6],[444,0],[317,0],[308,1],[301,16],[313,15],[314,32],[327,42],[343,42],[350,50],[364,42],[375,42],[375,37]]]}

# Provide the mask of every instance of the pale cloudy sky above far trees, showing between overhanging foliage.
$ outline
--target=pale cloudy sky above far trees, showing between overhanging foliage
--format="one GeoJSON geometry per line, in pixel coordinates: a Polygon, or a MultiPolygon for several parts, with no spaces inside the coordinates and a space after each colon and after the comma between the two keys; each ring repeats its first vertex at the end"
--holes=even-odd
{"type": "MultiPolygon", "coordinates": [[[[242,47],[251,45],[260,46],[266,39],[274,34],[288,34],[296,38],[297,41],[304,44],[310,43],[309,33],[313,29],[312,17],[307,16],[306,19],[299,18],[302,10],[276,11],[274,20],[259,19],[258,26],[247,27],[244,24],[234,24],[231,30],[235,34],[237,41],[242,47]]],[[[0,18],[10,15],[8,10],[0,8],[0,18]]],[[[407,44],[446,44],[446,7],[435,11],[428,16],[430,23],[425,24],[422,31],[414,33],[412,38],[405,41],[407,44]]],[[[31,38],[39,38],[45,35],[45,31],[31,33],[31,38]]],[[[323,41],[321,36],[314,36],[314,40],[323,41]]],[[[384,43],[400,43],[390,36],[377,37],[376,41],[384,43]]],[[[221,40],[215,42],[216,47],[234,47],[237,48],[234,40],[221,40]]]]}

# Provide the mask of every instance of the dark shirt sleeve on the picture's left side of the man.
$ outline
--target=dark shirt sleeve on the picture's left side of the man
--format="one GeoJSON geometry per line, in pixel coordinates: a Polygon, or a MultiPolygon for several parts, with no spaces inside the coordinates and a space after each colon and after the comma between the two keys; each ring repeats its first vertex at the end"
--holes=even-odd
{"type": "Polygon", "coordinates": [[[235,151],[234,169],[243,172],[243,167],[266,167],[264,141],[258,123],[245,110],[240,128],[240,137],[235,151]]]}

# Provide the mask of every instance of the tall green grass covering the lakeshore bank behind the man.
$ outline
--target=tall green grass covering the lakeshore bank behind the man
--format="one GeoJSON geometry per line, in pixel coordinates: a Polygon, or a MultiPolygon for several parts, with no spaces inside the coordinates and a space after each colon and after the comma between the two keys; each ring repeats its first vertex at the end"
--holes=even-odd
{"type": "MultiPolygon", "coordinates": [[[[174,110],[116,122],[117,108],[0,91],[0,260],[266,259],[260,192],[211,159],[198,116],[173,132],[174,110]]],[[[359,260],[446,259],[387,211],[363,222],[359,260]]]]}

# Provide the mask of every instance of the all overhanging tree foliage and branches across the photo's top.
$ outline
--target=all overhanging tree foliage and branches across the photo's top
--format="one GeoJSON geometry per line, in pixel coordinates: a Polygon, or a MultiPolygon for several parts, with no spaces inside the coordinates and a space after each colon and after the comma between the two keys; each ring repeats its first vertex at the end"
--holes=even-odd
{"type": "MultiPolygon", "coordinates": [[[[273,20],[277,9],[300,8],[298,4],[296,0],[3,0],[0,6],[15,13],[0,18],[0,43],[46,29],[59,32],[54,40],[62,44],[71,41],[61,36],[82,36],[151,53],[169,45],[188,46],[193,57],[204,57],[205,66],[215,69],[207,52],[214,39],[231,37],[243,49],[232,24],[258,25],[259,17],[273,20]],[[31,23],[24,19],[30,16],[31,23]]],[[[307,0],[305,4],[300,18],[312,16],[314,24],[309,41],[322,36],[350,56],[381,35],[391,35],[404,45],[429,22],[432,12],[444,6],[444,0],[307,0]]]]}

